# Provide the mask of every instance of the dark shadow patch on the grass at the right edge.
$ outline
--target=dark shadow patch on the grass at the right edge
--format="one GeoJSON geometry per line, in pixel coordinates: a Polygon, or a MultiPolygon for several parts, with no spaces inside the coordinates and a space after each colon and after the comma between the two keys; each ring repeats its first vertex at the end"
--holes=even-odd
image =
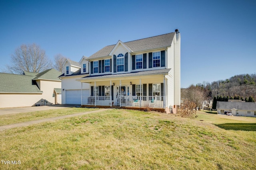
{"type": "Polygon", "coordinates": [[[215,125],[225,130],[256,131],[256,123],[223,123],[215,125]]]}

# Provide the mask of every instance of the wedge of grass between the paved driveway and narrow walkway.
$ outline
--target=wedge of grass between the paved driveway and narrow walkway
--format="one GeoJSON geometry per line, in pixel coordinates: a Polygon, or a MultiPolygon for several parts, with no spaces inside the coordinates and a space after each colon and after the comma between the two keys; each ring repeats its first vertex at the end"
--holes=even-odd
{"type": "Polygon", "coordinates": [[[0,126],[10,125],[14,123],[21,123],[26,121],[34,121],[50,117],[58,117],[63,115],[71,115],[74,113],[81,113],[86,111],[92,111],[96,109],[88,108],[66,108],[66,109],[57,109],[57,110],[45,110],[45,111],[34,111],[27,113],[16,113],[9,115],[0,115],[0,126]]]}

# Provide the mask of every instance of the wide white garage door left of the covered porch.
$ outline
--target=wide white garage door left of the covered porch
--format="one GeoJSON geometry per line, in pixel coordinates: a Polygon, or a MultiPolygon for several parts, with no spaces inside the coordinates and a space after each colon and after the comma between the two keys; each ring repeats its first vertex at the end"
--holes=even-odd
{"type": "MultiPolygon", "coordinates": [[[[83,90],[83,96],[90,96],[90,90],[83,90]]],[[[81,90],[66,90],[66,104],[81,105],[81,90]]]]}

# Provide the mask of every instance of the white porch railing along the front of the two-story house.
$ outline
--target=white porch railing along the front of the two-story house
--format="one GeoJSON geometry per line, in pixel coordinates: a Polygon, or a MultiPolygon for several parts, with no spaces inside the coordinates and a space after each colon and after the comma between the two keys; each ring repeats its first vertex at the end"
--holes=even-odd
{"type": "MultiPolygon", "coordinates": [[[[167,96],[121,96],[113,104],[124,107],[158,107],[166,106],[167,96]]],[[[82,105],[112,106],[112,96],[82,96],[82,105]]]]}

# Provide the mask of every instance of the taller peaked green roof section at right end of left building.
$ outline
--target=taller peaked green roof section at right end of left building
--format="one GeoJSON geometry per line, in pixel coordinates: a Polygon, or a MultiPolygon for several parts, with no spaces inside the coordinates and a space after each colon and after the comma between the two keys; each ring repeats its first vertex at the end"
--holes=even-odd
{"type": "Polygon", "coordinates": [[[33,80],[43,79],[43,80],[61,81],[60,78],[58,78],[61,74],[62,72],[59,72],[58,70],[55,70],[54,68],[52,68],[36,74],[36,77],[33,78],[33,80]]]}

